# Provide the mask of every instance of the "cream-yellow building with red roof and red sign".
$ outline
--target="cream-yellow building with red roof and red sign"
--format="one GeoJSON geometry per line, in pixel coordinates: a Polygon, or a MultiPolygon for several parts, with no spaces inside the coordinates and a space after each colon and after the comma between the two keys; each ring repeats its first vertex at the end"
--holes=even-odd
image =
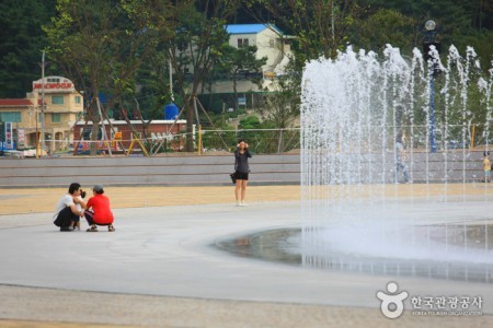
{"type": "Polygon", "coordinates": [[[34,148],[39,141],[43,94],[47,150],[64,150],[73,142],[73,126],[83,113],[82,95],[70,80],[46,77],[44,83],[42,79],[33,82],[33,91],[25,98],[0,99],[0,121],[10,122],[13,144],[18,149],[34,148]]]}

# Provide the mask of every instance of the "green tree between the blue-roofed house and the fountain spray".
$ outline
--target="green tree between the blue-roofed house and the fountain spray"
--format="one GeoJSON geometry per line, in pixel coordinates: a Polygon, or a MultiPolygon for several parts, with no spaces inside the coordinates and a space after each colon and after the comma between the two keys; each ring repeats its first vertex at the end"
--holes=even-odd
{"type": "MultiPolygon", "coordinates": [[[[300,83],[306,62],[336,56],[345,46],[358,8],[351,0],[251,0],[245,5],[260,22],[266,22],[266,11],[276,25],[294,36],[289,40],[294,54],[290,65],[286,74],[275,81],[275,92],[265,96],[262,110],[266,124],[284,129],[299,117],[300,83]]],[[[285,148],[283,133],[271,138],[277,140],[278,152],[285,148]]]]}

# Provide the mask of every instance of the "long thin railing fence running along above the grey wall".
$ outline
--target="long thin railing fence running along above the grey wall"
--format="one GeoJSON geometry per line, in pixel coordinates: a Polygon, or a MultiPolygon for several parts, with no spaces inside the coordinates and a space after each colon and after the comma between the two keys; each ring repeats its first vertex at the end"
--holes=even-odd
{"type": "MultiPolygon", "coordinates": [[[[364,148],[368,152],[381,151],[382,148],[392,151],[393,138],[395,131],[402,131],[405,138],[405,148],[427,151],[429,148],[429,129],[426,126],[375,126],[371,127],[371,144],[365,144],[364,148]]],[[[447,127],[438,126],[436,134],[436,147],[438,151],[472,149],[474,147],[490,148],[493,142],[491,128],[486,125],[450,125],[447,127]]],[[[152,136],[147,139],[139,139],[150,155],[159,153],[185,152],[185,140],[187,133],[152,136]]],[[[344,133],[340,138],[345,138],[344,133]]],[[[256,154],[282,154],[297,153],[300,147],[300,129],[239,129],[239,130],[197,130],[193,133],[194,152],[214,153],[214,152],[231,152],[236,149],[239,139],[244,139],[250,150],[256,154]]],[[[128,144],[131,140],[122,140],[128,144]]],[[[67,140],[46,140],[47,144],[54,143],[55,154],[71,154],[74,152],[73,143],[67,140]]],[[[89,154],[89,145],[95,143],[98,153],[125,153],[128,149],[122,148],[121,143],[114,140],[82,140],[76,142],[78,144],[78,154],[89,154]]],[[[360,149],[362,145],[354,148],[360,149]]],[[[342,150],[344,151],[344,150],[342,150]]],[[[352,151],[352,150],[345,150],[352,151]]],[[[140,153],[140,143],[136,143],[133,153],[140,153]]]]}

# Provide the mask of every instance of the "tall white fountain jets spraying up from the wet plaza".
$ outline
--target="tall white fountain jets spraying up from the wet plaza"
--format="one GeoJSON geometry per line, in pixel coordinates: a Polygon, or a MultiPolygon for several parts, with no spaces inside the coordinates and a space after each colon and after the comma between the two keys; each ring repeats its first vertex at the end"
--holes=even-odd
{"type": "Polygon", "coordinates": [[[493,70],[483,78],[470,47],[461,57],[451,46],[446,65],[435,49],[429,55],[426,62],[414,49],[405,59],[387,46],[379,58],[349,47],[307,65],[305,266],[493,280],[493,199],[478,175],[489,149],[493,70]],[[471,93],[482,117],[470,110],[471,93]],[[482,144],[475,151],[474,142],[482,144]]]}

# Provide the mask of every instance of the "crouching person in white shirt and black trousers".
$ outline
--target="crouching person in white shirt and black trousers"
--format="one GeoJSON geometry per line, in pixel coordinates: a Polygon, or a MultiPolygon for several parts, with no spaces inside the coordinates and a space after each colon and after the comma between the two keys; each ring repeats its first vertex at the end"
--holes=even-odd
{"type": "Polygon", "coordinates": [[[67,195],[64,195],[55,208],[55,214],[53,215],[53,223],[60,227],[60,231],[73,231],[73,229],[80,226],[80,218],[83,216],[83,211],[78,204],[84,206],[83,200],[80,199],[80,185],[73,183],[69,186],[67,195]]]}

